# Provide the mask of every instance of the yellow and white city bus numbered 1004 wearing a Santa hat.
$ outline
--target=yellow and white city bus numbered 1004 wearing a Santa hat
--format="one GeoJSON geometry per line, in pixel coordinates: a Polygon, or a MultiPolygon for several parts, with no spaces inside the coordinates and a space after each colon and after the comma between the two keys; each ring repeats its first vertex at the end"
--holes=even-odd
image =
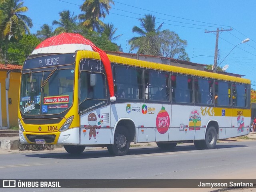
{"type": "Polygon", "coordinates": [[[250,80],[114,55],[106,67],[102,52],[74,43],[72,35],[68,45],[54,44],[62,36],[46,47],[44,41],[24,61],[21,142],[125,155],[131,142],[213,149],[217,139],[249,133],[250,80]]]}

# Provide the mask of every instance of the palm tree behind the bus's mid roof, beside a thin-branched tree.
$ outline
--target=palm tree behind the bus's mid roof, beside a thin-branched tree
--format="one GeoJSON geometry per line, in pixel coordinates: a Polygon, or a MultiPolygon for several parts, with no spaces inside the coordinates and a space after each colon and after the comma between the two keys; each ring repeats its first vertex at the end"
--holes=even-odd
{"type": "Polygon", "coordinates": [[[144,18],[139,18],[140,27],[134,26],[133,33],[138,33],[140,37],[132,37],[128,42],[131,45],[130,50],[138,49],[138,53],[148,55],[158,55],[158,45],[155,41],[155,35],[160,31],[163,24],[156,28],[156,18],[152,14],[145,14],[144,18]]]}

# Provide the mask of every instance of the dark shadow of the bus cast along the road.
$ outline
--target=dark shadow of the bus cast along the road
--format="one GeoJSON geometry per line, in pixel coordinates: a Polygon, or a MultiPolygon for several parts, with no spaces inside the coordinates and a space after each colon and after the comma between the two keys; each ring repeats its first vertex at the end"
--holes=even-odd
{"type": "MultiPolygon", "coordinates": [[[[172,150],[163,150],[158,147],[131,147],[128,154],[126,155],[129,157],[130,155],[150,155],[150,154],[161,154],[161,153],[177,153],[177,152],[184,152],[184,151],[214,151],[218,149],[225,149],[225,148],[236,148],[236,147],[248,147],[248,145],[216,145],[215,149],[196,149],[194,144],[191,145],[177,145],[172,150]]],[[[24,155],[24,157],[36,157],[36,158],[46,158],[46,159],[95,159],[95,158],[113,158],[112,155],[108,153],[107,149],[92,149],[92,150],[85,150],[81,154],[73,155],[67,152],[59,152],[56,153],[38,153],[38,154],[31,154],[31,155],[24,155]]],[[[125,156],[118,156],[118,157],[125,157],[125,156]]],[[[117,158],[118,158],[117,157],[117,158]]],[[[136,157],[136,156],[135,156],[136,157]]]]}

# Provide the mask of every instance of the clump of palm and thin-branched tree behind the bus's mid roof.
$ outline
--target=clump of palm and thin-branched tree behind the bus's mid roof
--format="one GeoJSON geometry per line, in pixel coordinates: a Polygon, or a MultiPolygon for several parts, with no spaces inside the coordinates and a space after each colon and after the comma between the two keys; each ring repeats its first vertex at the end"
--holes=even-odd
{"type": "Polygon", "coordinates": [[[168,29],[160,31],[162,24],[156,28],[156,18],[152,14],[140,18],[140,27],[134,26],[132,32],[140,37],[129,40],[130,51],[138,49],[139,54],[156,55],[189,61],[185,51],[187,41],[180,39],[178,34],[168,29]]]}

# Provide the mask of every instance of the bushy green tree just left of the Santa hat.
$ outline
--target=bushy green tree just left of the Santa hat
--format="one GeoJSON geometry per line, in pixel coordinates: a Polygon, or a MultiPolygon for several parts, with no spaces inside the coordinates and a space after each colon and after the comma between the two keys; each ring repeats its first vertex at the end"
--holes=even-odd
{"type": "Polygon", "coordinates": [[[13,64],[22,65],[40,42],[34,35],[23,35],[19,41],[14,38],[10,39],[8,48],[9,60],[13,64]]]}

